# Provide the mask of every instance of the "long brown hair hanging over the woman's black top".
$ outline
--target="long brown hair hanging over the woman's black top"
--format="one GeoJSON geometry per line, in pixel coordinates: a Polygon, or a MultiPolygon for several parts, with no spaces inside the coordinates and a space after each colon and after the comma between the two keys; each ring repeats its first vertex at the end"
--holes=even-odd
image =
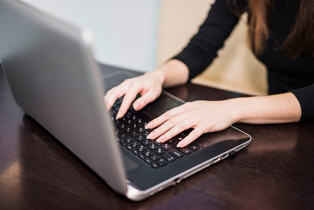
{"type": "MultiPolygon", "coordinates": [[[[248,38],[255,54],[260,55],[271,33],[267,27],[273,15],[275,0],[246,0],[249,13],[248,38]]],[[[237,8],[237,0],[232,3],[237,8]]],[[[314,1],[295,1],[294,22],[290,34],[278,47],[290,59],[314,58],[314,1]]]]}

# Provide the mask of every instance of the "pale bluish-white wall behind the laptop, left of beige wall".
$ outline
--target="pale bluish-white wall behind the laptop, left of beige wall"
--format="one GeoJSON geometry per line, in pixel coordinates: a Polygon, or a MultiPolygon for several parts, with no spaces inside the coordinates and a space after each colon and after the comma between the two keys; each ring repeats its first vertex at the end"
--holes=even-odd
{"type": "Polygon", "coordinates": [[[148,71],[156,67],[159,0],[23,0],[94,34],[102,63],[148,71]]]}

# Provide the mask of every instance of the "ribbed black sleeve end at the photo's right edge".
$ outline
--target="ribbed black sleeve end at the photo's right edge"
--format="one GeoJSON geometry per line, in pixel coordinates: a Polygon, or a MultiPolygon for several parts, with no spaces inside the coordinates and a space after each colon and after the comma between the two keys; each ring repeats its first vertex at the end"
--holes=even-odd
{"type": "Polygon", "coordinates": [[[314,84],[289,92],[292,92],[300,103],[302,115],[299,122],[314,122],[314,84]]]}

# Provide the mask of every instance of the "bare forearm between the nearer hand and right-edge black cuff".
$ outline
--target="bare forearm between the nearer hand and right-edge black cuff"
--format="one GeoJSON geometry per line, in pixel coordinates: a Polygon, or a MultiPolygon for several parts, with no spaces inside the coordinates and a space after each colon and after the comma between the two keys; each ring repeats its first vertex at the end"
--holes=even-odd
{"type": "Polygon", "coordinates": [[[228,100],[235,122],[278,124],[298,122],[301,108],[296,97],[288,92],[277,95],[234,98],[228,100]]]}

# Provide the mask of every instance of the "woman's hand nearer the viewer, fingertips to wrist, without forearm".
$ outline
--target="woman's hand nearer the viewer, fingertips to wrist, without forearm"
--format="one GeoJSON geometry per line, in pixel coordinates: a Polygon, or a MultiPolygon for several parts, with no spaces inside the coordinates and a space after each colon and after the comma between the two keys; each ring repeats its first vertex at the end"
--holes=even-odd
{"type": "Polygon", "coordinates": [[[198,100],[187,102],[164,113],[150,121],[145,129],[160,126],[152,131],[147,139],[166,142],[179,133],[193,128],[194,130],[177,145],[177,147],[185,147],[204,133],[228,128],[237,121],[236,117],[236,112],[234,112],[230,100],[198,100]]]}

